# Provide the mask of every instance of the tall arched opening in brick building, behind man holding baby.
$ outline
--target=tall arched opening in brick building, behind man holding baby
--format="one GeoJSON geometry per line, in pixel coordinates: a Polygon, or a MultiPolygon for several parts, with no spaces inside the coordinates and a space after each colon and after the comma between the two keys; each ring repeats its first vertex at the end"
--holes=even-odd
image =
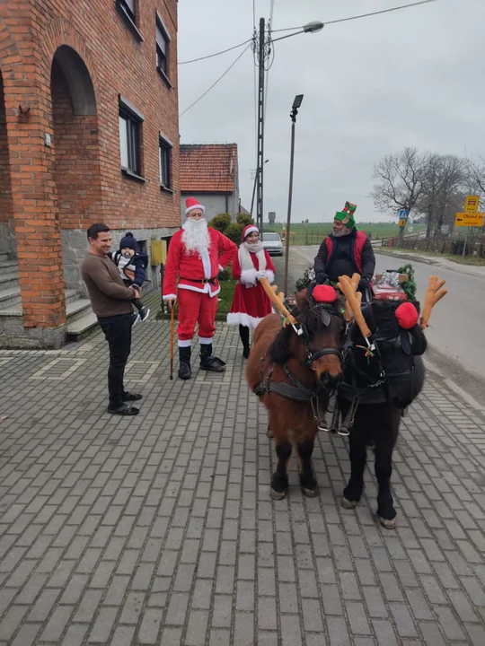
{"type": "Polygon", "coordinates": [[[89,223],[100,221],[98,114],[91,75],[73,48],[57,48],[50,74],[54,178],[67,290],[83,291],[80,263],[89,223]]]}

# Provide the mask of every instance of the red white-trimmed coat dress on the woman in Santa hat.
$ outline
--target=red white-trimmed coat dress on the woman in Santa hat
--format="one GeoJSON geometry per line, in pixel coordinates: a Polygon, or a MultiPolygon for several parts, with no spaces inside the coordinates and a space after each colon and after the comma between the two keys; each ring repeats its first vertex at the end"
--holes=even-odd
{"type": "MultiPolygon", "coordinates": [[[[227,315],[229,325],[242,325],[254,329],[261,319],[268,316],[273,309],[268,294],[264,291],[263,286],[256,278],[256,272],[259,269],[259,260],[255,253],[250,254],[254,271],[251,269],[241,271],[239,256],[236,254],[233,260],[233,278],[237,279],[234,291],[231,310],[227,315]]],[[[264,249],[266,258],[266,273],[269,283],[275,279],[275,267],[269,257],[269,253],[264,249]]]]}

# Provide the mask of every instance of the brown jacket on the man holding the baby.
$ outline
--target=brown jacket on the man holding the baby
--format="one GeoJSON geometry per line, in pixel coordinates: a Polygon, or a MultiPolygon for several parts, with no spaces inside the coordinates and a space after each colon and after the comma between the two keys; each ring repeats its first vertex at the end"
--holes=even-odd
{"type": "Polygon", "coordinates": [[[133,301],[137,294],[125,287],[118,267],[108,256],[98,256],[89,252],[81,265],[81,274],[97,317],[130,314],[133,311],[130,301],[133,301]]]}

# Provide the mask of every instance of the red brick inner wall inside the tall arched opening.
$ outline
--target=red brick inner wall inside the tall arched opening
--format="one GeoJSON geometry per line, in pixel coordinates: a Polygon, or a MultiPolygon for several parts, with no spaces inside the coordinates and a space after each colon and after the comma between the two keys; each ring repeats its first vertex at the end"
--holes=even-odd
{"type": "Polygon", "coordinates": [[[61,229],[86,229],[100,219],[101,174],[98,118],[75,115],[71,95],[56,60],[51,76],[57,210],[61,229]]]}

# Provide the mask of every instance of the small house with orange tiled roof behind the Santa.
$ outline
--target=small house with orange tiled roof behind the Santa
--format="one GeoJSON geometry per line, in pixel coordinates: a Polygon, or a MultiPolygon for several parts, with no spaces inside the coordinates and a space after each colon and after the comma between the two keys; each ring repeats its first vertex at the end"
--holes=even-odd
{"type": "Polygon", "coordinates": [[[194,196],[206,207],[206,218],[239,213],[237,144],[181,144],[181,221],[185,200],[194,196]]]}

